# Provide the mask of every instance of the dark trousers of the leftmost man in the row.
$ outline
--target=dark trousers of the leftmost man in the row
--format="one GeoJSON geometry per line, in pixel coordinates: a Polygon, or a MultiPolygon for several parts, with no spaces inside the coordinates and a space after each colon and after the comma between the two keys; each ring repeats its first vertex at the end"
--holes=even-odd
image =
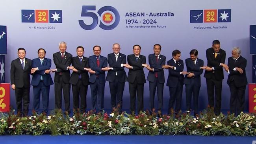
{"type": "Polygon", "coordinates": [[[17,113],[22,114],[22,103],[23,103],[23,116],[28,115],[28,105],[30,102],[30,88],[22,87],[15,89],[17,113]]]}

